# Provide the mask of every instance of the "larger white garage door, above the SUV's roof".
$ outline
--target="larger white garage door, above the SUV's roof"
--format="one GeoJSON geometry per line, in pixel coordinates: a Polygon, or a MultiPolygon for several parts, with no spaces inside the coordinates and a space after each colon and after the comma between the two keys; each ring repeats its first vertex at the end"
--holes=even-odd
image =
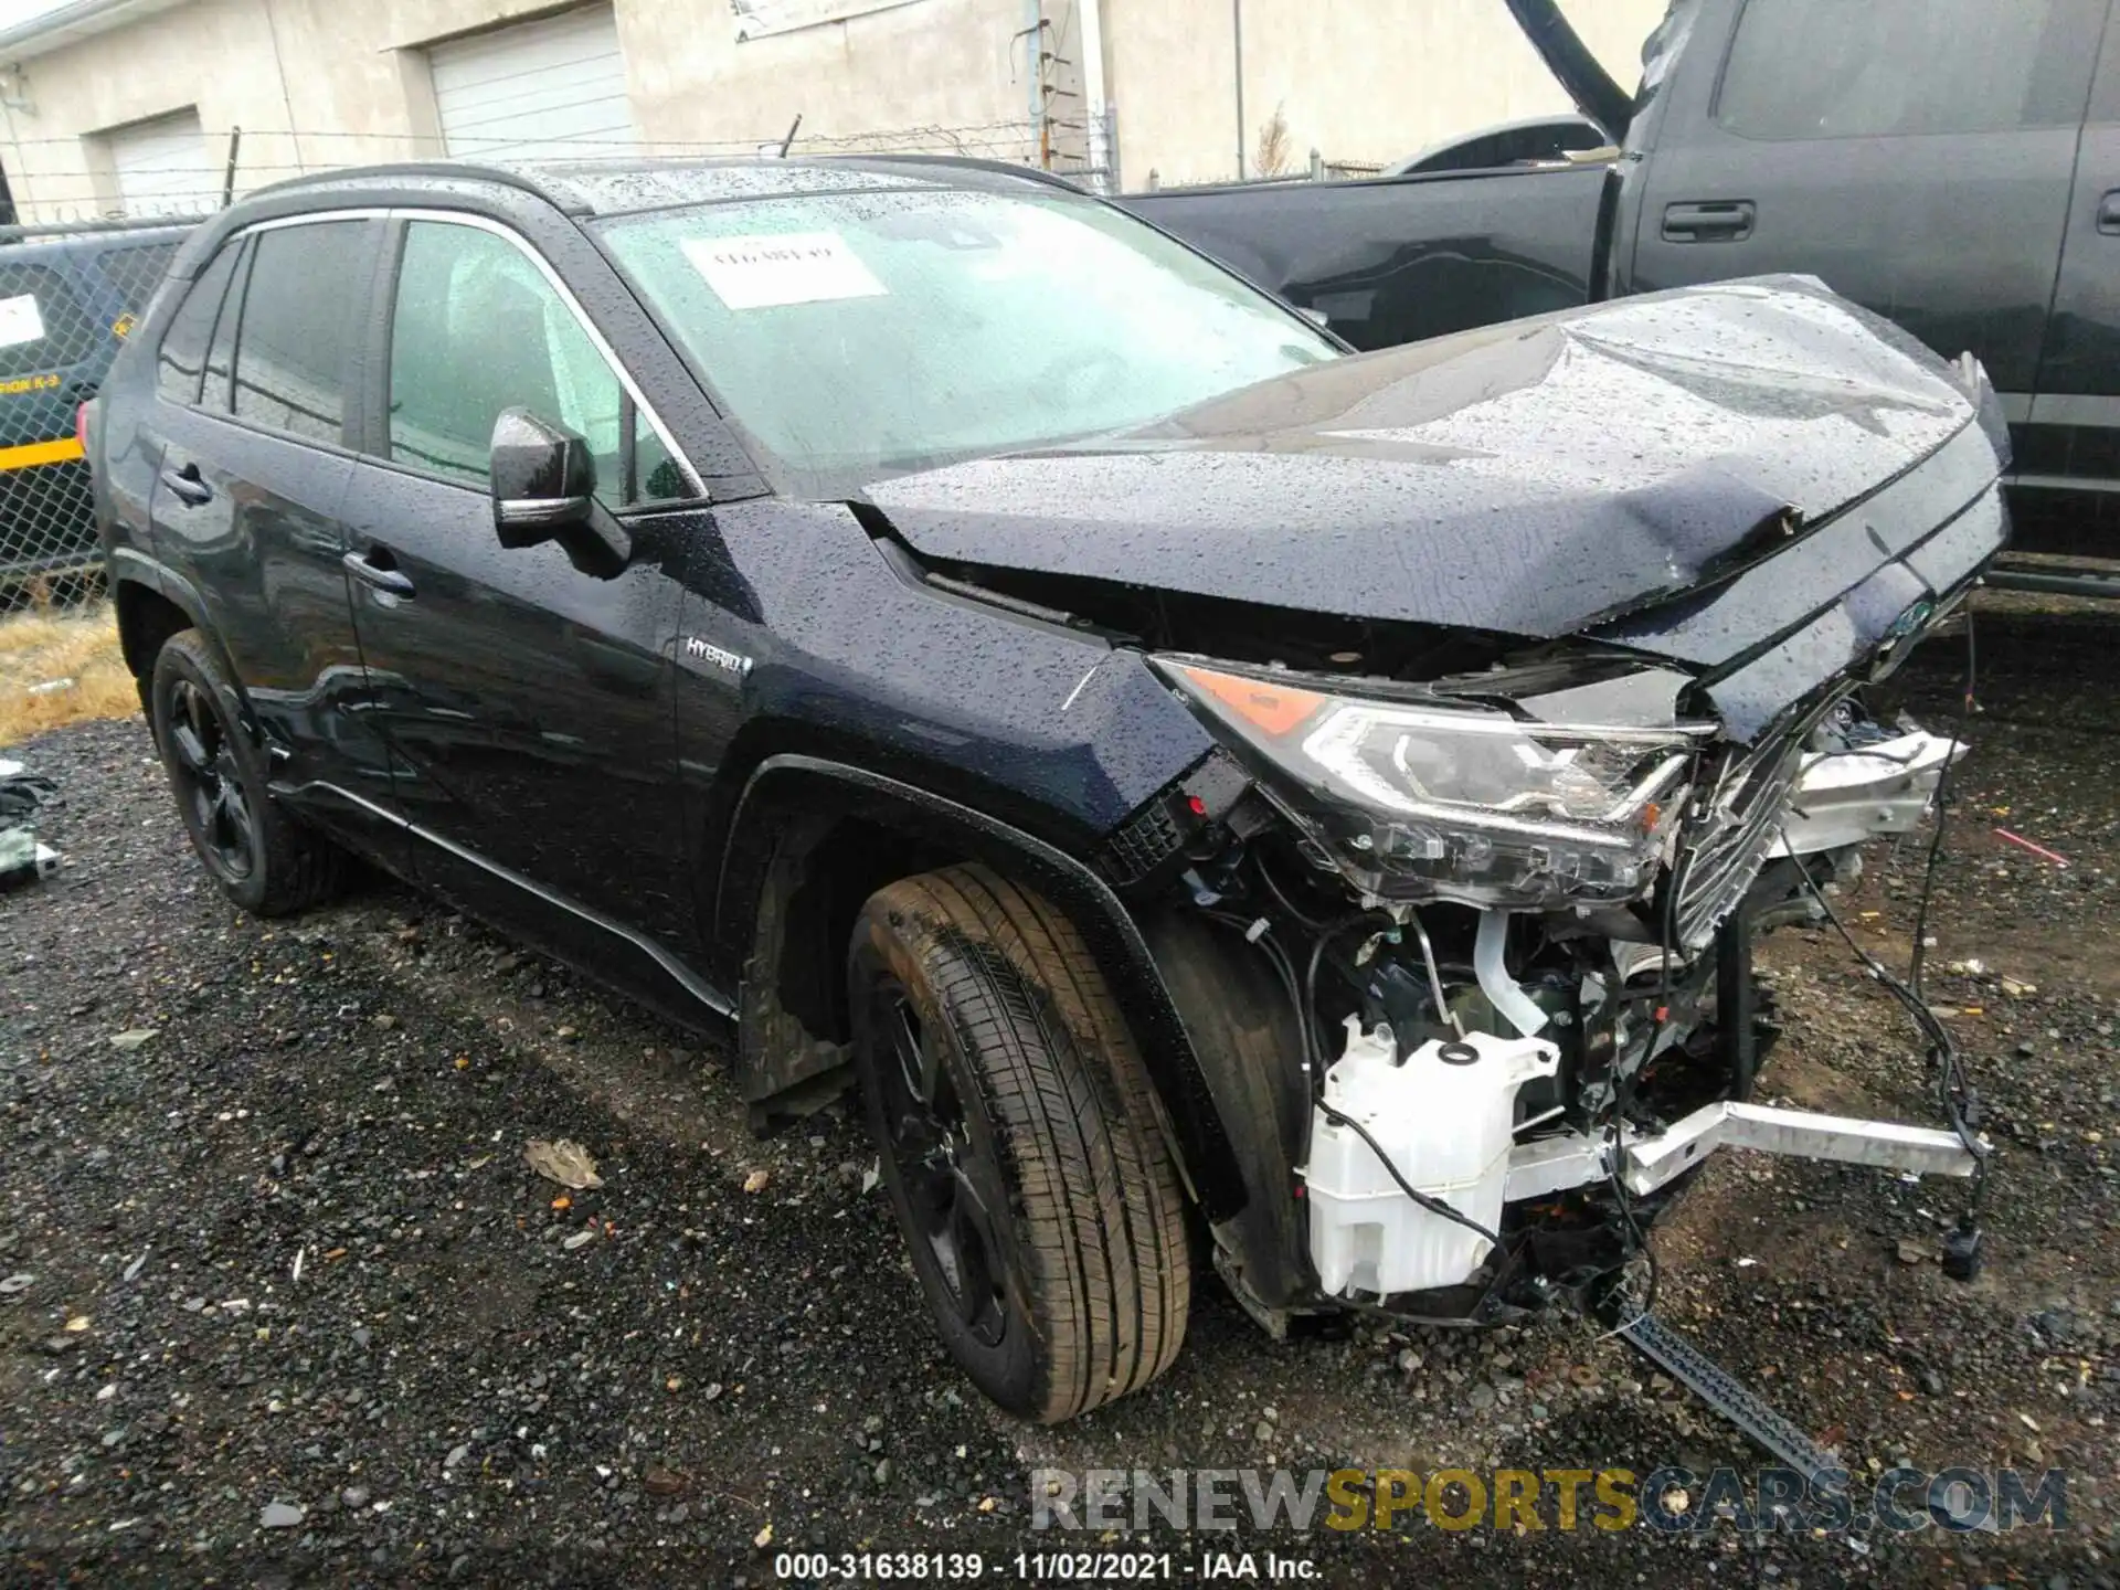
{"type": "Polygon", "coordinates": [[[611,6],[437,45],[428,61],[452,155],[594,155],[634,142],[611,6]]]}

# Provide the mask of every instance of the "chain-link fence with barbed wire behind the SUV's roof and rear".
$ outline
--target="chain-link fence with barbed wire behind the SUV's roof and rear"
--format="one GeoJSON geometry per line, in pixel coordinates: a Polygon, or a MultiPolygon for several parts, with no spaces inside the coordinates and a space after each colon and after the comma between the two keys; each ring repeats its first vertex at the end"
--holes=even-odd
{"type": "MultiPolygon", "coordinates": [[[[441,159],[432,140],[369,134],[204,134],[199,165],[159,170],[153,191],[117,191],[81,163],[81,140],[0,151],[19,225],[0,227],[0,611],[93,591],[102,572],[76,416],[146,314],[178,244],[206,214],[293,176],[392,159],[441,159]]],[[[456,148],[464,159],[702,159],[958,155],[1117,191],[1109,119],[1045,117],[973,127],[778,134],[719,142],[456,148]]]]}

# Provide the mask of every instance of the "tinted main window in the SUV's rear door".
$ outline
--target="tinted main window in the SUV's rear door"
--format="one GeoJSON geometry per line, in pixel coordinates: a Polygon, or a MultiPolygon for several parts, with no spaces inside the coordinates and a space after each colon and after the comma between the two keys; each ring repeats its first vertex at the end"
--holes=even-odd
{"type": "Polygon", "coordinates": [[[261,231],[235,335],[235,418],[316,441],[346,424],[346,350],[367,286],[360,220],[261,231]]]}

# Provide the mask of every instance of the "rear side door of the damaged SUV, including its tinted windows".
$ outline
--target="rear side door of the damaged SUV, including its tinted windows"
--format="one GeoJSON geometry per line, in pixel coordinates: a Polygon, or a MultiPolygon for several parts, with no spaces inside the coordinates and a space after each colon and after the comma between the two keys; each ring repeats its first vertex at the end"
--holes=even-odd
{"type": "MultiPolygon", "coordinates": [[[[227,265],[204,371],[187,367],[193,299],[163,339],[153,526],[157,553],[195,587],[244,685],[273,787],[339,837],[399,863],[390,765],[363,712],[339,528],[354,473],[346,432],[360,424],[348,388],[379,240],[379,220],[303,218],[223,248],[242,252],[227,265]]],[[[199,286],[220,269],[216,257],[199,286]]]]}

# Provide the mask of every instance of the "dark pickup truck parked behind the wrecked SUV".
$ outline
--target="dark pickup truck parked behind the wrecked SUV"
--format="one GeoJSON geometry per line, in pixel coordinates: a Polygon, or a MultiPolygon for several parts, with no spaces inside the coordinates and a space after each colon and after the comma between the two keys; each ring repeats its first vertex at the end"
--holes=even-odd
{"type": "Polygon", "coordinates": [[[1505,2],[1613,148],[1124,204],[1357,348],[1817,276],[1986,367],[2020,547],[2120,555],[2120,0],[1677,0],[1632,95],[1505,2]]]}

